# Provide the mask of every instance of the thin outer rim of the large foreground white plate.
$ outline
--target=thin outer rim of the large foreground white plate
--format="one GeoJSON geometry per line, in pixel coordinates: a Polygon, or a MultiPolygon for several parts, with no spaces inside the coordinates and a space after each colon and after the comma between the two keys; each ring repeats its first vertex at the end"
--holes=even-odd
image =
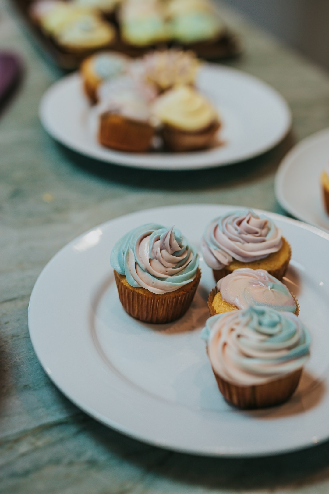
{"type": "MultiPolygon", "coordinates": [[[[74,405],[76,405],[79,409],[81,409],[83,412],[86,412],[88,415],[90,415],[92,418],[96,419],[97,421],[101,422],[102,424],[108,426],[108,427],[111,427],[113,428],[114,430],[120,432],[120,433],[123,433],[125,435],[127,435],[128,437],[131,437],[133,439],[136,439],[136,440],[139,440],[139,441],[142,441],[146,444],[150,444],[152,446],[157,446],[157,447],[160,447],[160,448],[163,448],[163,449],[168,449],[168,450],[173,450],[173,451],[177,451],[179,453],[188,453],[188,454],[195,454],[195,455],[202,455],[202,456],[209,456],[209,457],[236,457],[236,458],[239,458],[239,457],[259,457],[259,456],[272,456],[272,455],[277,455],[277,454],[281,454],[281,453],[290,453],[290,452],[294,452],[294,451],[298,451],[300,449],[305,449],[305,448],[309,448],[309,447],[313,447],[315,445],[318,445],[318,444],[321,444],[322,442],[325,442],[326,440],[328,440],[329,438],[329,430],[326,434],[323,435],[323,437],[321,436],[318,436],[317,437],[317,440],[314,442],[312,441],[311,439],[306,443],[305,441],[301,441],[300,444],[294,444],[293,446],[285,446],[285,447],[280,447],[280,448],[276,448],[276,449],[266,449],[264,452],[246,452],[246,451],[243,451],[243,452],[240,452],[240,451],[231,451],[229,449],[223,449],[223,450],[218,450],[216,452],[214,451],[211,451],[211,452],[204,452],[204,451],[199,451],[198,449],[196,450],[193,450],[191,448],[184,448],[184,447],[179,447],[177,445],[175,445],[175,447],[173,447],[170,443],[159,443],[157,442],[156,440],[153,440],[153,439],[148,439],[148,438],[145,438],[145,436],[143,436],[143,434],[139,434],[139,433],[136,433],[135,431],[123,426],[122,424],[119,424],[118,422],[115,422],[113,420],[109,420],[108,417],[105,417],[105,416],[102,416],[101,414],[99,414],[98,412],[95,412],[95,410],[89,408],[88,406],[84,405],[83,403],[79,402],[79,400],[76,400],[74,399],[72,396],[70,396],[70,393],[68,393],[66,390],[65,390],[65,387],[56,381],[56,379],[53,377],[53,375],[48,372],[48,369],[47,369],[47,365],[46,365],[46,362],[44,362],[44,359],[43,357],[40,355],[39,351],[38,351],[38,344],[37,344],[37,339],[35,338],[35,335],[34,335],[34,330],[33,328],[31,327],[31,318],[30,318],[30,315],[31,315],[31,307],[33,306],[34,304],[34,294],[35,294],[35,291],[36,291],[36,287],[37,287],[37,284],[42,280],[44,274],[45,274],[45,271],[47,269],[47,267],[52,263],[54,262],[57,257],[59,257],[62,253],[62,251],[64,251],[65,249],[71,247],[76,241],[78,241],[79,239],[81,239],[82,237],[84,237],[86,234],[88,234],[89,232],[92,232],[93,230],[97,229],[97,228],[102,228],[104,227],[105,225],[107,225],[108,223],[111,223],[112,221],[115,221],[115,220],[118,220],[120,218],[126,218],[126,217],[134,217],[142,212],[145,212],[145,213],[149,213],[149,212],[153,212],[153,211],[156,211],[156,210],[159,210],[159,209],[169,209],[169,208],[189,208],[189,207],[208,207],[208,206],[224,206],[225,208],[230,208],[232,210],[236,210],[236,209],[242,209],[243,206],[231,206],[231,205],[221,205],[221,204],[188,204],[188,205],[176,205],[176,206],[160,206],[160,207],[155,207],[155,208],[147,208],[147,209],[142,209],[142,210],[138,210],[138,211],[135,211],[133,213],[129,213],[129,214],[122,214],[116,218],[112,218],[111,220],[109,221],[106,221],[106,222],[103,222],[99,225],[96,225],[92,228],[90,228],[89,230],[83,232],[82,234],[78,235],[76,238],[74,238],[72,241],[70,241],[68,244],[66,244],[64,247],[62,247],[49,261],[48,263],[45,265],[45,267],[42,269],[41,273],[39,274],[38,278],[37,278],[37,281],[35,283],[35,286],[32,290],[32,293],[31,293],[31,297],[30,297],[30,302],[29,302],[29,308],[28,308],[28,325],[29,325],[29,334],[30,334],[30,338],[31,338],[31,341],[32,341],[32,345],[33,345],[33,348],[34,348],[34,351],[37,355],[37,359],[39,360],[43,370],[48,374],[48,376],[50,377],[51,381],[53,382],[53,384],[61,391],[61,393],[63,393],[74,405]]],[[[309,224],[306,224],[304,222],[301,222],[299,220],[295,220],[295,219],[292,219],[292,218],[289,218],[289,217],[286,217],[286,216],[283,216],[281,214],[278,214],[278,213],[272,213],[270,211],[266,211],[266,210],[262,210],[262,209],[257,209],[255,208],[254,209],[257,213],[264,213],[264,214],[267,214],[269,217],[271,217],[272,219],[277,219],[277,220],[282,220],[288,224],[292,224],[292,225],[296,225],[298,226],[299,228],[301,229],[305,229],[307,231],[310,231],[320,237],[323,237],[325,238],[326,240],[329,241],[329,233],[326,233],[324,232],[323,230],[317,228],[317,227],[314,227],[314,226],[311,226],[309,224]]]]}

